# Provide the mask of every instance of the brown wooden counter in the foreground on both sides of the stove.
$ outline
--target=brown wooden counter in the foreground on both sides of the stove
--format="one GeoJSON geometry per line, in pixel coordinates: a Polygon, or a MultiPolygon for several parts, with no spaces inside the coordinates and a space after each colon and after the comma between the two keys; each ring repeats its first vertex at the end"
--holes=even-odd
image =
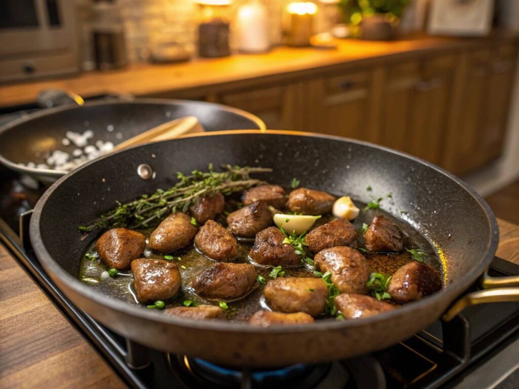
{"type": "MultiPolygon", "coordinates": [[[[519,264],[519,226],[498,219],[497,255],[519,264]]],[[[124,387],[0,244],[0,387],[124,387]]]]}

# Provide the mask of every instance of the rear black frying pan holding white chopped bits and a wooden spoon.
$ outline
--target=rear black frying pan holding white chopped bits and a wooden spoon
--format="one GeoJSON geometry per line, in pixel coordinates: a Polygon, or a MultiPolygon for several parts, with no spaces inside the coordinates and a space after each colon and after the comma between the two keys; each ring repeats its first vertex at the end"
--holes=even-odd
{"type": "Polygon", "coordinates": [[[71,153],[74,145],[63,146],[67,131],[92,130],[94,140],[125,141],[159,124],[183,116],[195,116],[206,131],[242,128],[265,129],[263,121],[241,109],[186,100],[133,99],[65,105],[15,120],[0,129],[0,162],[9,169],[53,182],[66,172],[28,168],[19,163],[45,163],[56,150],[71,153]],[[107,127],[112,126],[112,131],[107,127]]]}

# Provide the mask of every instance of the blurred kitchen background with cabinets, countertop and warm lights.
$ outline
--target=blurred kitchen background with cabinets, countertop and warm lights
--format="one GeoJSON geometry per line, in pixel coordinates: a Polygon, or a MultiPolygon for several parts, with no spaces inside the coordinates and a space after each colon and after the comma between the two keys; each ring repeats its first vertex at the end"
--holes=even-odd
{"type": "Polygon", "coordinates": [[[0,124],[93,96],[222,103],[429,160],[519,223],[516,0],[2,0],[0,41],[0,124]]]}

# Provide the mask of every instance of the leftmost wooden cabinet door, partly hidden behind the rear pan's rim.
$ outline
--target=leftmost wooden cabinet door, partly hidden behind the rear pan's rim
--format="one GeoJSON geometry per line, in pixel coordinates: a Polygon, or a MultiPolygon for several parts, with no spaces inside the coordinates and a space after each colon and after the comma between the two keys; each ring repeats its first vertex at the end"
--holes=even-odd
{"type": "Polygon", "coordinates": [[[270,130],[301,130],[300,89],[299,84],[256,87],[222,93],[218,102],[260,117],[270,130]]]}

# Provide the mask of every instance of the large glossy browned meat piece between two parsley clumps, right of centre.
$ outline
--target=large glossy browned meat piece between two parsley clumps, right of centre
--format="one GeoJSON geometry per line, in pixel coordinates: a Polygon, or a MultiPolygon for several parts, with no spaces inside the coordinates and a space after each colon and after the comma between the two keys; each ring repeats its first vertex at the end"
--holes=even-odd
{"type": "Polygon", "coordinates": [[[329,271],[340,293],[366,293],[370,266],[357,250],[346,246],[325,248],[313,258],[321,272],[329,271]]]}

